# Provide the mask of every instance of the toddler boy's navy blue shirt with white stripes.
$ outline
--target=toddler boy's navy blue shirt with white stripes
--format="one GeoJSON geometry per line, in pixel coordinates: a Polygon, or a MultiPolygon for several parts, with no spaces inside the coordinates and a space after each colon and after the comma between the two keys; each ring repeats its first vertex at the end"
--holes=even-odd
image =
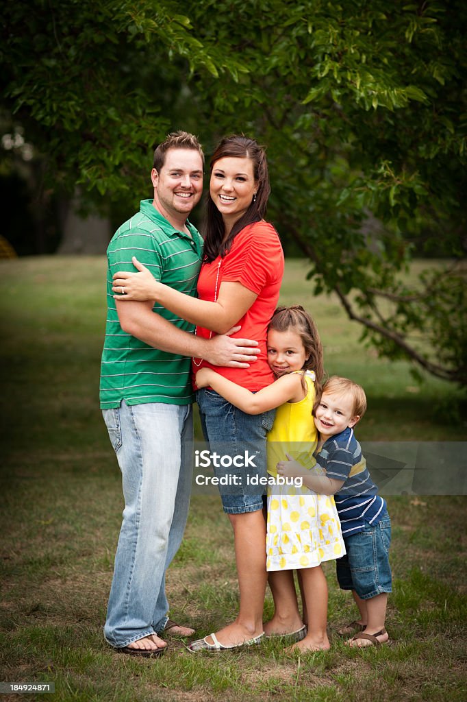
{"type": "Polygon", "coordinates": [[[370,477],[353,429],[327,439],[315,458],[327,477],[344,481],[334,495],[344,538],[363,531],[365,522],[377,524],[386,515],[386,501],[370,477]]]}

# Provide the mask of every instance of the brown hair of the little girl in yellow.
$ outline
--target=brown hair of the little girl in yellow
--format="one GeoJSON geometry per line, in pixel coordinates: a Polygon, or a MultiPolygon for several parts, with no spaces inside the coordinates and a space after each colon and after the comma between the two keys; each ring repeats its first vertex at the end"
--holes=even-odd
{"type": "MultiPolygon", "coordinates": [[[[278,307],[272,316],[271,322],[269,322],[268,329],[274,329],[275,331],[293,329],[299,334],[306,353],[306,360],[302,370],[315,371],[316,395],[320,395],[324,376],[323,345],[311,315],[304,310],[302,305],[278,307]]],[[[306,390],[305,387],[304,390],[306,390]]]]}

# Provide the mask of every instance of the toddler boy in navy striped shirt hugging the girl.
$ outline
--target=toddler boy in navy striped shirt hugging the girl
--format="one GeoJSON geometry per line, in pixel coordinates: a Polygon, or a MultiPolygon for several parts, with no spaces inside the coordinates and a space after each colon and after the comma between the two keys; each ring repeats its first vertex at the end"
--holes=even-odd
{"type": "MultiPolygon", "coordinates": [[[[391,567],[391,519],[386,501],[370,477],[354,433],[367,409],[365,392],[348,378],[332,376],[314,407],[320,434],[316,463],[326,475],[310,475],[297,461],[278,463],[278,475],[303,478],[303,484],[321,495],[334,495],[341,521],[346,555],[337,559],[337,579],[342,590],[351,590],[360,618],[339,633],[356,634],[351,646],[384,644],[384,628],[391,567]]],[[[290,457],[289,457],[290,458],[290,457]]]]}

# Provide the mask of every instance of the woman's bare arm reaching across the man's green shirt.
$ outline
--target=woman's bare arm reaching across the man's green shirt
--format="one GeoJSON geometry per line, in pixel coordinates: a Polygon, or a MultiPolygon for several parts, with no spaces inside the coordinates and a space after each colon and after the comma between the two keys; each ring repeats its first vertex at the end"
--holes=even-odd
{"type": "Polygon", "coordinates": [[[257,293],[248,290],[241,283],[222,282],[215,303],[199,300],[158,282],[149,268],[142,265],[135,256],[132,260],[140,272],[119,271],[114,274],[112,290],[114,293],[120,293],[114,295],[114,298],[121,302],[156,300],[166,310],[186,319],[187,322],[212,329],[218,334],[224,334],[234,326],[257,298],[257,293]],[[125,290],[123,295],[122,288],[125,290]]]}

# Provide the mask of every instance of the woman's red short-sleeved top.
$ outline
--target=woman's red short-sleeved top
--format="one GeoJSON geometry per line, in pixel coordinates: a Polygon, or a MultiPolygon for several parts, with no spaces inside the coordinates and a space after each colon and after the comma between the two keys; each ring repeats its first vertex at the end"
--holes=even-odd
{"type": "MultiPolygon", "coordinates": [[[[207,361],[194,359],[194,373],[206,366],[252,392],[273,382],[274,376],[267,362],[266,333],[279,299],[283,273],[284,254],[278,233],[264,220],[238,232],[224,258],[217,256],[211,263],[203,263],[198,278],[198,297],[201,300],[214,302],[219,296],[222,281],[241,283],[257,293],[248,312],[234,325],[241,324],[241,330],[232,336],[257,341],[259,356],[250,368],[212,366],[207,361]]],[[[210,338],[215,336],[215,332],[198,326],[196,335],[210,338]]]]}

